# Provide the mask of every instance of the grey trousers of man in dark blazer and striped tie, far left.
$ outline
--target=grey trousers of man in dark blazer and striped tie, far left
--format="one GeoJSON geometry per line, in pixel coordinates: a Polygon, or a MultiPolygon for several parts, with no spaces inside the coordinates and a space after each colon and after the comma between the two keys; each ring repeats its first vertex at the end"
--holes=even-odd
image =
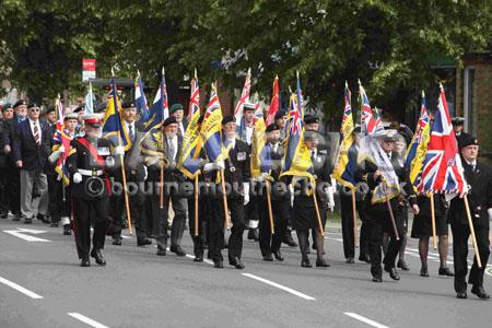
{"type": "Polygon", "coordinates": [[[46,174],[36,171],[21,169],[21,214],[23,218],[34,218],[38,213],[46,215],[48,203],[40,202],[48,192],[48,180],[46,174]],[[33,187],[37,184],[38,197],[33,197],[33,187]]]}

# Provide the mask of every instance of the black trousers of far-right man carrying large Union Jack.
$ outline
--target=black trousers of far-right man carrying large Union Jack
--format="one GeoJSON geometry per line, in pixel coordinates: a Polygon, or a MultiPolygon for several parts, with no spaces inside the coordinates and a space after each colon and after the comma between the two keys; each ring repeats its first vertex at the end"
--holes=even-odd
{"type": "MultiPolygon", "coordinates": [[[[468,238],[470,237],[470,229],[468,224],[452,223],[453,231],[453,257],[455,266],[455,291],[457,293],[467,290],[466,277],[468,273],[468,238]]],[[[468,283],[477,286],[483,286],[483,272],[490,255],[489,226],[475,226],[475,235],[479,248],[482,268],[477,265],[477,257],[471,266],[468,283]]]]}

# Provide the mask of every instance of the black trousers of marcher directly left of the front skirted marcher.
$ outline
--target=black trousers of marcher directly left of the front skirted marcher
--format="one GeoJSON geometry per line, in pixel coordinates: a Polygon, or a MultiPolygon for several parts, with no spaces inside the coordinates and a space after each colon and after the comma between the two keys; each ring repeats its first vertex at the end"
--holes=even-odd
{"type": "Polygon", "coordinates": [[[259,246],[262,256],[271,255],[280,249],[282,238],[286,234],[289,224],[290,199],[271,200],[274,234],[271,234],[270,218],[268,213],[267,197],[258,197],[259,214],[259,246]]]}

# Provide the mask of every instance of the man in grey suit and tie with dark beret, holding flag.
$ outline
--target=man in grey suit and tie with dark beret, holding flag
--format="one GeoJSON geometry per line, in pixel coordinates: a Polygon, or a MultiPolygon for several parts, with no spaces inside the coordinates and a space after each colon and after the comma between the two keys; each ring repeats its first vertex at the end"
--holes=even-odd
{"type": "Polygon", "coordinates": [[[142,153],[145,155],[147,167],[149,171],[148,180],[154,186],[151,198],[151,208],[153,216],[153,230],[157,241],[157,255],[166,255],[167,246],[167,219],[169,216],[169,204],[173,204],[174,220],[171,227],[171,248],[169,250],[177,256],[185,256],[180,243],[186,224],[186,213],[188,202],[183,192],[183,183],[186,181],[185,175],[177,168],[176,163],[179,159],[183,138],[177,136],[178,124],[174,117],[168,117],[162,125],[162,131],[157,129],[150,130],[142,140],[142,153]],[[152,133],[157,133],[157,144],[152,141],[152,133]],[[145,152],[144,149],[151,150],[145,152]],[[161,165],[164,165],[164,199],[161,209],[161,197],[159,183],[161,181],[161,165]]]}

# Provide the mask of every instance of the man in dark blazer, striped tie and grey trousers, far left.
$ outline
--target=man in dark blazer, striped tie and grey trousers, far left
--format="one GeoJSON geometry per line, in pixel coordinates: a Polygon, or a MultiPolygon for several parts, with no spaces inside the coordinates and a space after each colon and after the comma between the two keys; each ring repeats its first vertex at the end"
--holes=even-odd
{"type": "Polygon", "coordinates": [[[13,157],[21,169],[21,213],[24,223],[32,223],[37,214],[46,216],[47,203],[39,207],[39,200],[48,191],[44,168],[50,152],[49,127],[39,120],[39,106],[27,107],[28,119],[19,124],[14,133],[13,157]]]}

